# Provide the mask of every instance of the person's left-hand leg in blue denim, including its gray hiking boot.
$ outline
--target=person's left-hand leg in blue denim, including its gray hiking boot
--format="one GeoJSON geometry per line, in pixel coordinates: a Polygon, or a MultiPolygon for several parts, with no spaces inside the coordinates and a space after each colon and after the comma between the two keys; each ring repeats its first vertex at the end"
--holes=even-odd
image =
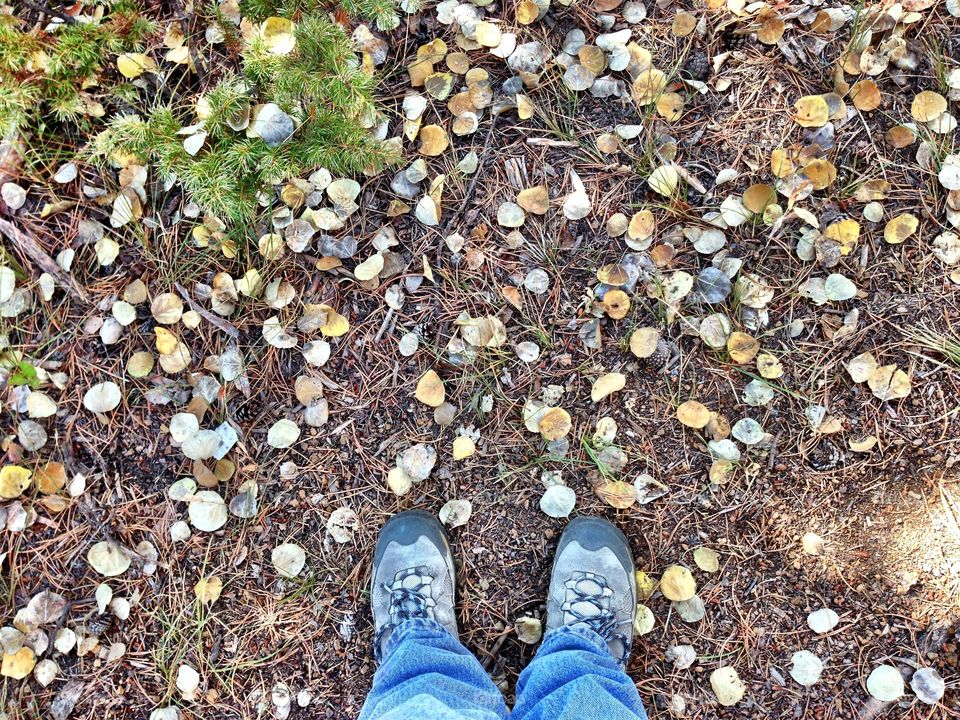
{"type": "Polygon", "coordinates": [[[453,558],[437,520],[415,510],[392,517],[372,575],[381,664],[360,720],[505,720],[503,695],[457,639],[453,558]]]}

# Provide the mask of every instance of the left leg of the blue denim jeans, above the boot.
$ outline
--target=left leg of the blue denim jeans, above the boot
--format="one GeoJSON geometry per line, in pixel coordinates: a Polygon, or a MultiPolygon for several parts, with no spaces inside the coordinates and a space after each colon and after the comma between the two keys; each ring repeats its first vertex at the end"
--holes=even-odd
{"type": "Polygon", "coordinates": [[[506,720],[483,666],[433,620],[400,623],[387,639],[359,720],[506,720]]]}

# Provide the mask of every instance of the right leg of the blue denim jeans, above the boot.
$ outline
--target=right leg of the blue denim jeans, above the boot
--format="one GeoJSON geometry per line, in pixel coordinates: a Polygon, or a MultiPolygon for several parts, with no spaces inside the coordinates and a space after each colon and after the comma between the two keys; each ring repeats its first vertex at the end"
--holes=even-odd
{"type": "Polygon", "coordinates": [[[603,638],[586,628],[547,633],[517,680],[512,720],[647,720],[637,686],[603,638]]]}

